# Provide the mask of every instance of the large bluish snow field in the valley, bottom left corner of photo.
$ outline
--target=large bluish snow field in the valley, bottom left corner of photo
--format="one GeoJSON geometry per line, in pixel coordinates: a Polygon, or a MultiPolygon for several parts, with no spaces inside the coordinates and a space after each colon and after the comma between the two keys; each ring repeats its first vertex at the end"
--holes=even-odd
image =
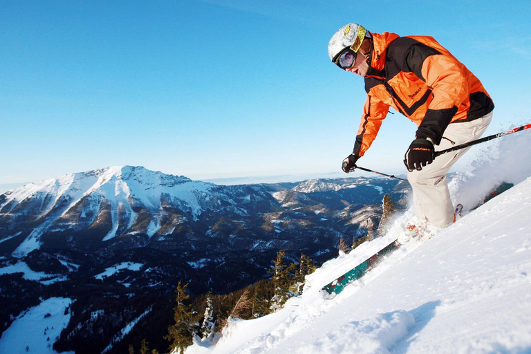
{"type": "Polygon", "coordinates": [[[2,333],[0,352],[10,354],[57,353],[52,346],[70,321],[70,312],[66,315],[64,312],[71,302],[71,299],[52,297],[19,315],[2,333]]]}

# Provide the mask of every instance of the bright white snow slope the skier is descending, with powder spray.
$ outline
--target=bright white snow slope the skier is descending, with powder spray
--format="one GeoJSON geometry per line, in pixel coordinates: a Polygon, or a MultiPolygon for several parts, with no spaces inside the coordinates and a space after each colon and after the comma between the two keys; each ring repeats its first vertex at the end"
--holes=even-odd
{"type": "Polygon", "coordinates": [[[451,181],[452,198],[465,202],[463,217],[431,239],[402,245],[325,299],[322,286],[395,239],[409,209],[384,238],[306,277],[303,295],[279,312],[232,322],[217,343],[185,353],[531,353],[529,142],[522,134],[480,151],[483,160],[451,181]],[[510,151],[526,152],[507,165],[510,151]],[[515,186],[469,210],[503,180],[515,186]]]}

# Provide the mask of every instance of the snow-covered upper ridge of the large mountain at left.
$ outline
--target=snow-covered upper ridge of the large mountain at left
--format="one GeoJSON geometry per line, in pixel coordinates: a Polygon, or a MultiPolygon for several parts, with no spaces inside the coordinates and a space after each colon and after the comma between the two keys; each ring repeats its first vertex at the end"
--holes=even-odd
{"type": "Polygon", "coordinates": [[[40,236],[51,227],[77,227],[82,222],[91,225],[105,210],[110,211],[112,227],[103,241],[113,239],[119,227],[131,229],[136,209],[149,210],[152,220],[147,234],[153,236],[161,228],[160,218],[167,215],[165,205],[176,206],[196,218],[206,208],[221,203],[216,187],[144,167],[107,167],[12,189],[0,199],[0,216],[24,216],[41,222],[13,252],[15,257],[24,257],[40,247],[40,236]]]}

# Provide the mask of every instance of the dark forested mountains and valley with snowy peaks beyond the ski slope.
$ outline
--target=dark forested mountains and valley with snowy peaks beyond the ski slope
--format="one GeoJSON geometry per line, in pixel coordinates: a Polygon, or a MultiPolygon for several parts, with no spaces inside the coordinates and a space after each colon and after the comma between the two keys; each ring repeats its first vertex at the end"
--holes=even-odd
{"type": "Polygon", "coordinates": [[[166,330],[179,281],[195,295],[236,290],[268,277],[281,249],[320,264],[340,237],[378,227],[384,194],[409,191],[382,178],[299,184],[223,186],[126,166],[1,194],[0,331],[43,297],[68,299],[57,300],[68,306],[54,348],[122,352],[125,328],[166,330]],[[335,187],[308,187],[323,183],[335,187]]]}

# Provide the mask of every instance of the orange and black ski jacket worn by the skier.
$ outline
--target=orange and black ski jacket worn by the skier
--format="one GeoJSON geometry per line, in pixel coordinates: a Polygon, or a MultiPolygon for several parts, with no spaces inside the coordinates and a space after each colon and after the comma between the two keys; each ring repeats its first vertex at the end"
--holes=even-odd
{"type": "Polygon", "coordinates": [[[494,109],[478,78],[433,37],[371,35],[367,99],[355,155],[369,149],[390,106],[417,124],[417,138],[431,138],[435,145],[448,124],[481,118],[494,109]]]}

